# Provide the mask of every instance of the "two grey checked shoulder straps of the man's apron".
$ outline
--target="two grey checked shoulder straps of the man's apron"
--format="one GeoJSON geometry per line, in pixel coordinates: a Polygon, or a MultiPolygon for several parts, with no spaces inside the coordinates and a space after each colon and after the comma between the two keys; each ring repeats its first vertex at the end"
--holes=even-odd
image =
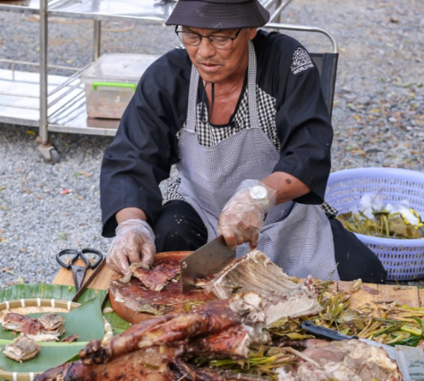
{"type": "MultiPolygon", "coordinates": [[[[249,42],[249,67],[247,68],[247,91],[249,95],[249,119],[250,128],[259,128],[259,116],[257,112],[256,97],[256,75],[257,59],[254,52],[253,42],[249,42]]],[[[187,131],[196,131],[197,120],[197,90],[199,89],[199,71],[192,64],[192,74],[190,76],[189,104],[187,108],[187,131]]]]}

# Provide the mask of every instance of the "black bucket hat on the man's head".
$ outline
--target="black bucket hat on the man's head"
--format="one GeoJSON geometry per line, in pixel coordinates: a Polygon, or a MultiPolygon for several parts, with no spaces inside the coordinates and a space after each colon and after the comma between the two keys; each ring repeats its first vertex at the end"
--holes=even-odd
{"type": "Polygon", "coordinates": [[[258,0],[179,0],[165,25],[205,29],[259,28],[269,11],[258,0]]]}

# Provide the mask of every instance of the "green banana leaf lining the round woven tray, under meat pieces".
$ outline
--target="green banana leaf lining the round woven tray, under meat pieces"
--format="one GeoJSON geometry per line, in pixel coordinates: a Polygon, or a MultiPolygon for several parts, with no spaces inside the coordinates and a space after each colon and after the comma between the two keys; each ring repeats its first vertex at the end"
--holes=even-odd
{"type": "MultiPolygon", "coordinates": [[[[40,313],[31,314],[35,317],[40,313]]],[[[100,311],[100,300],[93,298],[69,313],[59,313],[65,317],[66,333],[78,334],[78,341],[73,343],[42,343],[42,349],[32,360],[18,363],[0,353],[0,368],[6,372],[40,373],[49,368],[71,361],[91,339],[102,339],[105,334],[105,322],[100,311]]],[[[16,335],[0,328],[0,348],[4,350],[16,335]]]]}

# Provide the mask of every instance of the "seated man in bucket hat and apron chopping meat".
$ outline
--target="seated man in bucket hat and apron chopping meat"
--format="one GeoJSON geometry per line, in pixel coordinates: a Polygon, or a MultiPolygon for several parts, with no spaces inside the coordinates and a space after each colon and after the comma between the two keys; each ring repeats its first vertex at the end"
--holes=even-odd
{"type": "Polygon", "coordinates": [[[143,74],[102,163],[107,262],[125,279],[131,262],[223,234],[290,275],[384,282],[375,254],[319,207],[333,137],[319,73],[299,42],[257,30],[268,20],[257,0],[179,0],[167,20],[183,47],[143,74]]]}

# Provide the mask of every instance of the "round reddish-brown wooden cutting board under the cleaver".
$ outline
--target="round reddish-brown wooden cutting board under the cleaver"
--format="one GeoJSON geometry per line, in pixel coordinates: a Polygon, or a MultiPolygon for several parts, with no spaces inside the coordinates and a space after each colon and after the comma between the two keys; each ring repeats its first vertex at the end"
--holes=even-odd
{"type": "MultiPolygon", "coordinates": [[[[179,261],[192,253],[191,251],[170,251],[157,253],[153,266],[161,262],[178,265],[179,261]]],[[[157,316],[177,315],[188,312],[200,304],[213,299],[201,289],[194,289],[182,294],[181,283],[170,281],[162,291],[146,289],[139,279],[132,278],[129,283],[122,283],[121,277],[115,275],[109,287],[110,304],[117,315],[131,324],[142,322],[157,316]],[[146,310],[160,310],[148,313],[146,310]]]]}

